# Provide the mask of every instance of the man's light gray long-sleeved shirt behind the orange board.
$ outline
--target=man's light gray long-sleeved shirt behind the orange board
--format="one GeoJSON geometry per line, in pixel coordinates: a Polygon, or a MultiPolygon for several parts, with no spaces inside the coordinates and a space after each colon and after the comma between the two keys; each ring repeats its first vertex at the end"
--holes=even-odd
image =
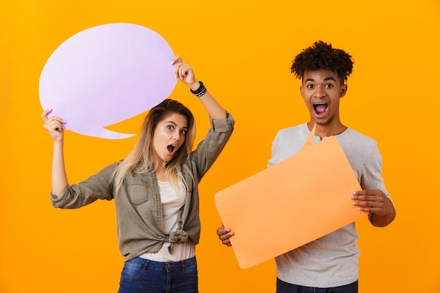
{"type": "MultiPolygon", "coordinates": [[[[268,166],[295,155],[303,147],[310,133],[307,124],[278,131],[272,144],[272,157],[268,166]]],[[[377,143],[353,129],[347,129],[335,137],[342,146],[362,189],[382,190],[389,197],[384,188],[382,157],[377,143]]],[[[318,141],[320,138],[315,136],[313,143],[318,141]]],[[[351,223],[277,256],[277,276],[284,282],[307,287],[328,288],[351,284],[358,280],[357,239],[355,223],[351,223]]]]}

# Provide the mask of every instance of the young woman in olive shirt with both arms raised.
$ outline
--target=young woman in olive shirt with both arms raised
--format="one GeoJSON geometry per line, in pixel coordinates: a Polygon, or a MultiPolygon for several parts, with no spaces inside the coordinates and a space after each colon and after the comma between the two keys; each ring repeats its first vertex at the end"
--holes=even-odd
{"type": "Polygon", "coordinates": [[[212,125],[194,151],[192,113],[167,99],[148,112],[125,159],[70,185],[63,154],[65,121],[49,118],[51,110],[41,114],[53,139],[53,206],[75,209],[96,200],[115,200],[119,249],[125,257],[119,293],[198,292],[198,183],[220,155],[235,122],[195,79],[188,63],[176,56],[172,64],[176,77],[200,99],[212,125]]]}

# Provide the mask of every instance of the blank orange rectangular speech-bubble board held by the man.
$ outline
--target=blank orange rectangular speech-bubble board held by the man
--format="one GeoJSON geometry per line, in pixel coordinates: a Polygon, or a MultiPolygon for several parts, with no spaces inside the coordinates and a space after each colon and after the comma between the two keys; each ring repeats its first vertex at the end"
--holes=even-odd
{"type": "Polygon", "coordinates": [[[304,147],[290,158],[215,194],[231,228],[240,268],[250,268],[316,240],[368,213],[351,200],[361,190],[337,138],[304,147]]]}

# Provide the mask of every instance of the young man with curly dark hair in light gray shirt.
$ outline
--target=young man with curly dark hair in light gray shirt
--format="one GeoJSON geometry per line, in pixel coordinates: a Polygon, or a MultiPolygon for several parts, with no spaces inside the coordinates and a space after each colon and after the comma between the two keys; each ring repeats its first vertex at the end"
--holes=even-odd
{"type": "MultiPolygon", "coordinates": [[[[348,53],[323,41],[315,42],[296,56],[291,70],[302,79],[299,90],[310,112],[310,121],[278,131],[268,166],[295,155],[316,124],[314,143],[335,136],[358,178],[362,190],[354,190],[353,204],[369,212],[373,226],[384,227],[394,220],[396,211],[384,188],[377,144],[339,119],[339,100],[347,93],[345,82],[352,69],[353,61],[348,53]]],[[[221,226],[217,235],[225,245],[231,246],[229,237],[233,231],[221,226]]],[[[358,292],[357,239],[358,233],[351,223],[277,256],[277,293],[358,292]]]]}

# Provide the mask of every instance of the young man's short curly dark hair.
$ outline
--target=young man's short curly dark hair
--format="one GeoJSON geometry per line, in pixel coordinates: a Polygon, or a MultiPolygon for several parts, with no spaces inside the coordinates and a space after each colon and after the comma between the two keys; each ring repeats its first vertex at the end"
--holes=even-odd
{"type": "Polygon", "coordinates": [[[290,70],[299,79],[302,79],[306,70],[331,70],[346,82],[353,70],[353,63],[347,52],[332,48],[332,44],[316,41],[295,57],[290,70]]]}

